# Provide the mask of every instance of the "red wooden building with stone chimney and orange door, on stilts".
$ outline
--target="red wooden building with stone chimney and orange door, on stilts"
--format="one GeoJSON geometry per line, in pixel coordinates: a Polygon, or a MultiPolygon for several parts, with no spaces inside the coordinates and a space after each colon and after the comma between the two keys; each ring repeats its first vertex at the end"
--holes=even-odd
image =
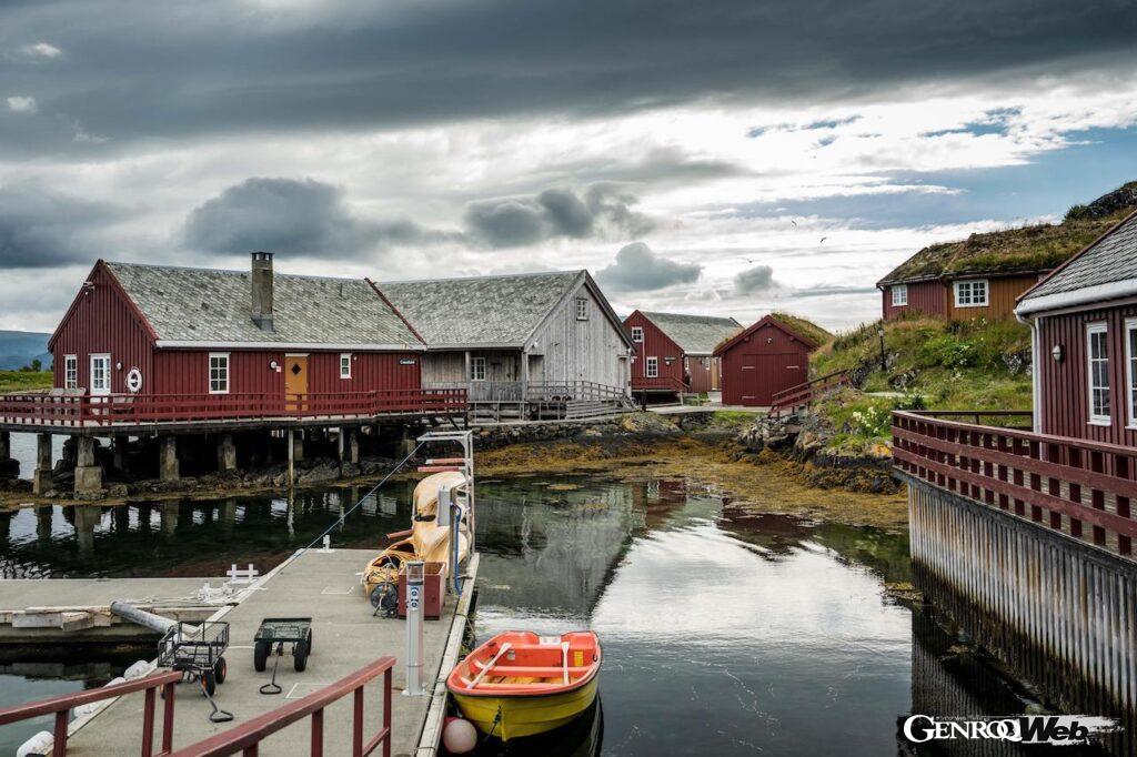
{"type": "Polygon", "coordinates": [[[94,265],[49,342],[64,393],[176,396],[204,409],[414,390],[424,344],[366,281],[94,265]]]}

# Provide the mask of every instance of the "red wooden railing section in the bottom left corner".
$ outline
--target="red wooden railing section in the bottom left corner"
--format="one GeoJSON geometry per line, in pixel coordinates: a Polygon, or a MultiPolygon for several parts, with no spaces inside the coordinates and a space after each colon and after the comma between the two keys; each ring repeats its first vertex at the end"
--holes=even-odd
{"type": "Polygon", "coordinates": [[[55,743],[51,747],[51,757],[65,757],[67,754],[67,724],[70,719],[70,710],[80,705],[113,699],[135,691],[146,691],[146,702],[142,709],[142,757],[161,757],[168,755],[174,748],[174,684],[182,680],[181,673],[160,673],[144,679],[136,679],[125,683],[117,683],[113,687],[101,689],[90,689],[78,693],[63,694],[51,699],[16,705],[0,709],[0,725],[18,723],[33,717],[55,715],[56,724],[53,729],[55,743]],[[153,706],[155,691],[161,688],[165,697],[165,706],[161,717],[161,751],[153,750],[153,706]]]}

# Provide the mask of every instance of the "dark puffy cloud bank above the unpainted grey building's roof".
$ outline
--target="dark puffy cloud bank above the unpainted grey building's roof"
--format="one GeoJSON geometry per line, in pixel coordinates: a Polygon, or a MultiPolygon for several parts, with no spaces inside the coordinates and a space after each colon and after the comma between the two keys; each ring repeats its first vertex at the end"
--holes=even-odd
{"type": "Polygon", "coordinates": [[[583,194],[548,189],[536,197],[472,202],[465,221],[471,238],[496,248],[563,236],[638,236],[650,231],[653,223],[632,210],[636,201],[612,184],[594,184],[583,194]]]}

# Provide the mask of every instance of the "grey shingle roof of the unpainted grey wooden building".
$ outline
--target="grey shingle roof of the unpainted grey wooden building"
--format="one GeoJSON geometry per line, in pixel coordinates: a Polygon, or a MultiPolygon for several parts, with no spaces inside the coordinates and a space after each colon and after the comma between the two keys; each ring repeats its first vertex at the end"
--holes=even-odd
{"type": "Polygon", "coordinates": [[[434,347],[521,347],[583,272],[432,278],[375,285],[434,347]]]}

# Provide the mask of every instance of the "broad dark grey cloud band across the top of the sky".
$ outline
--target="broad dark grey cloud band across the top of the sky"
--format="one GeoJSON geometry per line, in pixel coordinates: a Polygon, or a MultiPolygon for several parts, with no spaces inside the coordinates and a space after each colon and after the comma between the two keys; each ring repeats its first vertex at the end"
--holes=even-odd
{"type": "Polygon", "coordinates": [[[906,82],[1115,67],[1137,38],[1119,0],[42,0],[0,14],[5,95],[40,102],[34,119],[0,118],[16,155],[708,99],[836,101],[906,82]],[[20,63],[38,43],[64,55],[20,63]]]}

